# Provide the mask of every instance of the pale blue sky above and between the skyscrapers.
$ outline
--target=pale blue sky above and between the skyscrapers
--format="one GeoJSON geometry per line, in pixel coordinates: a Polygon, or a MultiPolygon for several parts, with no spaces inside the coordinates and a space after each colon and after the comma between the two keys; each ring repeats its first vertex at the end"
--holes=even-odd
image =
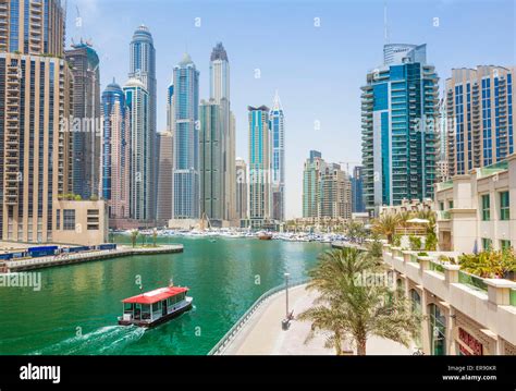
{"type": "MultiPolygon", "coordinates": [[[[222,41],[231,63],[237,156],[247,160],[247,106],[271,106],[274,90],[280,93],[291,218],[302,213],[303,163],[310,149],[351,167],[361,159],[359,88],[367,71],[382,62],[383,4],[373,0],[69,0],[66,33],[69,42],[81,36],[94,42],[103,89],[113,76],[125,83],[133,32],[140,24],[150,28],[157,50],[158,130],[165,126],[167,86],[183,52],[188,50],[200,71],[200,97],[208,98],[209,57],[216,42],[222,41]],[[82,27],[75,24],[77,14],[82,27]],[[260,78],[255,78],[257,69],[260,78]]],[[[386,4],[390,42],[427,44],[427,59],[435,65],[441,84],[452,68],[516,63],[513,0],[386,4]]]]}

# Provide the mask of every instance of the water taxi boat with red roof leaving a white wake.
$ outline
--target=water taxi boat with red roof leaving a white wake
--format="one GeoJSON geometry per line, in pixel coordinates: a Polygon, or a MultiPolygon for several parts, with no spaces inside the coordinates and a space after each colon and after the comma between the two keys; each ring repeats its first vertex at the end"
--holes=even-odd
{"type": "Polygon", "coordinates": [[[169,286],[125,298],[119,325],[153,327],[175,318],[192,308],[193,298],[186,292],[187,288],[169,286]]]}

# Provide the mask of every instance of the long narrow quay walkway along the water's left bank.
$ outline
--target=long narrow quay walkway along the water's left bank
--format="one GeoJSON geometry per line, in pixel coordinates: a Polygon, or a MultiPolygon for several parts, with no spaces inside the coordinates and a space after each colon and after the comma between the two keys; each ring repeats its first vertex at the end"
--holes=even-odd
{"type": "Polygon", "coordinates": [[[54,266],[82,264],[94,260],[120,258],[132,255],[159,255],[182,253],[183,245],[160,245],[159,247],[131,247],[119,245],[116,249],[91,251],[78,254],[61,254],[50,257],[30,258],[23,260],[11,260],[3,262],[10,272],[27,271],[34,269],[49,268],[54,266]]]}

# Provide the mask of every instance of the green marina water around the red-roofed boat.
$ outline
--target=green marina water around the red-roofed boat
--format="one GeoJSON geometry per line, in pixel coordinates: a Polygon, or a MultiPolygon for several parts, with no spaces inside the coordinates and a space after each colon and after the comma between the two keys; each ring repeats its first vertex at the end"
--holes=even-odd
{"type": "Polygon", "coordinates": [[[182,243],[184,253],[40,270],[39,292],[0,288],[0,354],[206,354],[285,271],[303,278],[329,248],[256,239],[161,242],[182,243]],[[121,300],[140,293],[137,276],[144,291],[171,278],[191,288],[194,309],[150,330],[118,326],[121,300]]]}

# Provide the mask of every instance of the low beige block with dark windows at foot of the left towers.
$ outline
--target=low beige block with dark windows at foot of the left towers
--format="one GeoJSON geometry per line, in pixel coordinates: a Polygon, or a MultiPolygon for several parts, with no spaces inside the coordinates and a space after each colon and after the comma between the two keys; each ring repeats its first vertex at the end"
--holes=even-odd
{"type": "Polygon", "coordinates": [[[99,245],[108,242],[108,206],[103,200],[54,201],[53,242],[99,245]]]}

